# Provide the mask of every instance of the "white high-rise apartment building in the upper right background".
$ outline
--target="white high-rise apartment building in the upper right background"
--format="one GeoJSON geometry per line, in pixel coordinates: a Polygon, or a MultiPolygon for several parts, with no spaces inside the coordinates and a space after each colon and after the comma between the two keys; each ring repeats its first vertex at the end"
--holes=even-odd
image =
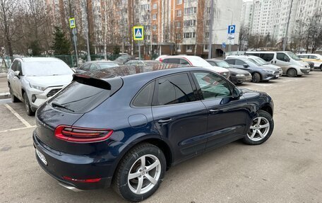
{"type": "Polygon", "coordinates": [[[288,38],[292,37],[294,32],[297,32],[298,23],[308,22],[312,16],[321,15],[318,13],[322,13],[321,0],[244,1],[241,21],[245,25],[250,22],[251,35],[270,35],[278,42],[282,42],[285,37],[289,16],[288,38]],[[290,9],[291,6],[292,9],[290,9]],[[251,7],[252,9],[250,9],[251,7]],[[244,16],[251,16],[251,20],[244,16]]]}

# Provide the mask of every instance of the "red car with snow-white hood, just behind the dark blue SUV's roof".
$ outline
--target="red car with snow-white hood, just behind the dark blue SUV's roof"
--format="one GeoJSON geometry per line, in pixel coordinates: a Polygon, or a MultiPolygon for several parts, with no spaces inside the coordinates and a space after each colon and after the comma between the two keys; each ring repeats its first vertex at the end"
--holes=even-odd
{"type": "Polygon", "coordinates": [[[160,62],[165,64],[183,64],[196,67],[208,67],[212,68],[217,74],[224,76],[226,79],[229,79],[229,71],[218,66],[212,66],[205,59],[196,56],[188,55],[177,55],[177,56],[166,56],[160,57],[160,62]]]}

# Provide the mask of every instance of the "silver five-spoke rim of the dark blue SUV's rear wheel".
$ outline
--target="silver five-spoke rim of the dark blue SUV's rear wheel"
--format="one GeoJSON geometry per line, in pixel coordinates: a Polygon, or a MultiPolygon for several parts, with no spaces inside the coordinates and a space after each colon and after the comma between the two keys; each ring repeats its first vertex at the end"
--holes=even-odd
{"type": "Polygon", "coordinates": [[[136,195],[149,192],[157,184],[160,174],[161,164],[156,156],[152,154],[141,156],[129,171],[129,188],[136,195]]]}

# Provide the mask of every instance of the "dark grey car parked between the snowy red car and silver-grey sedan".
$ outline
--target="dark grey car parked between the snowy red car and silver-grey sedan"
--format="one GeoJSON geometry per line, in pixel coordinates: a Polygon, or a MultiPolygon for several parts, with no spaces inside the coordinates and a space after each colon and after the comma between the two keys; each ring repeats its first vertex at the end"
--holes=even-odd
{"type": "Polygon", "coordinates": [[[250,82],[251,81],[251,74],[249,71],[244,71],[241,69],[235,69],[232,66],[230,66],[227,62],[223,60],[218,59],[206,59],[206,61],[211,64],[212,66],[219,66],[224,69],[229,70],[229,81],[232,81],[232,83],[235,84],[241,84],[244,82],[250,82]]]}

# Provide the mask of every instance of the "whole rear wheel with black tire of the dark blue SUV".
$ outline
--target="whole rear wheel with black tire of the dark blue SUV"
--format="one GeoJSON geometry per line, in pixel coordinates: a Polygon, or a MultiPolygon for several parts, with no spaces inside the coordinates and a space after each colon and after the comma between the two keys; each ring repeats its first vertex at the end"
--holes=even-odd
{"type": "Polygon", "coordinates": [[[139,144],[127,152],[119,163],[112,183],[114,190],[130,202],[143,201],[160,186],[166,165],[161,149],[153,144],[139,144]]]}

